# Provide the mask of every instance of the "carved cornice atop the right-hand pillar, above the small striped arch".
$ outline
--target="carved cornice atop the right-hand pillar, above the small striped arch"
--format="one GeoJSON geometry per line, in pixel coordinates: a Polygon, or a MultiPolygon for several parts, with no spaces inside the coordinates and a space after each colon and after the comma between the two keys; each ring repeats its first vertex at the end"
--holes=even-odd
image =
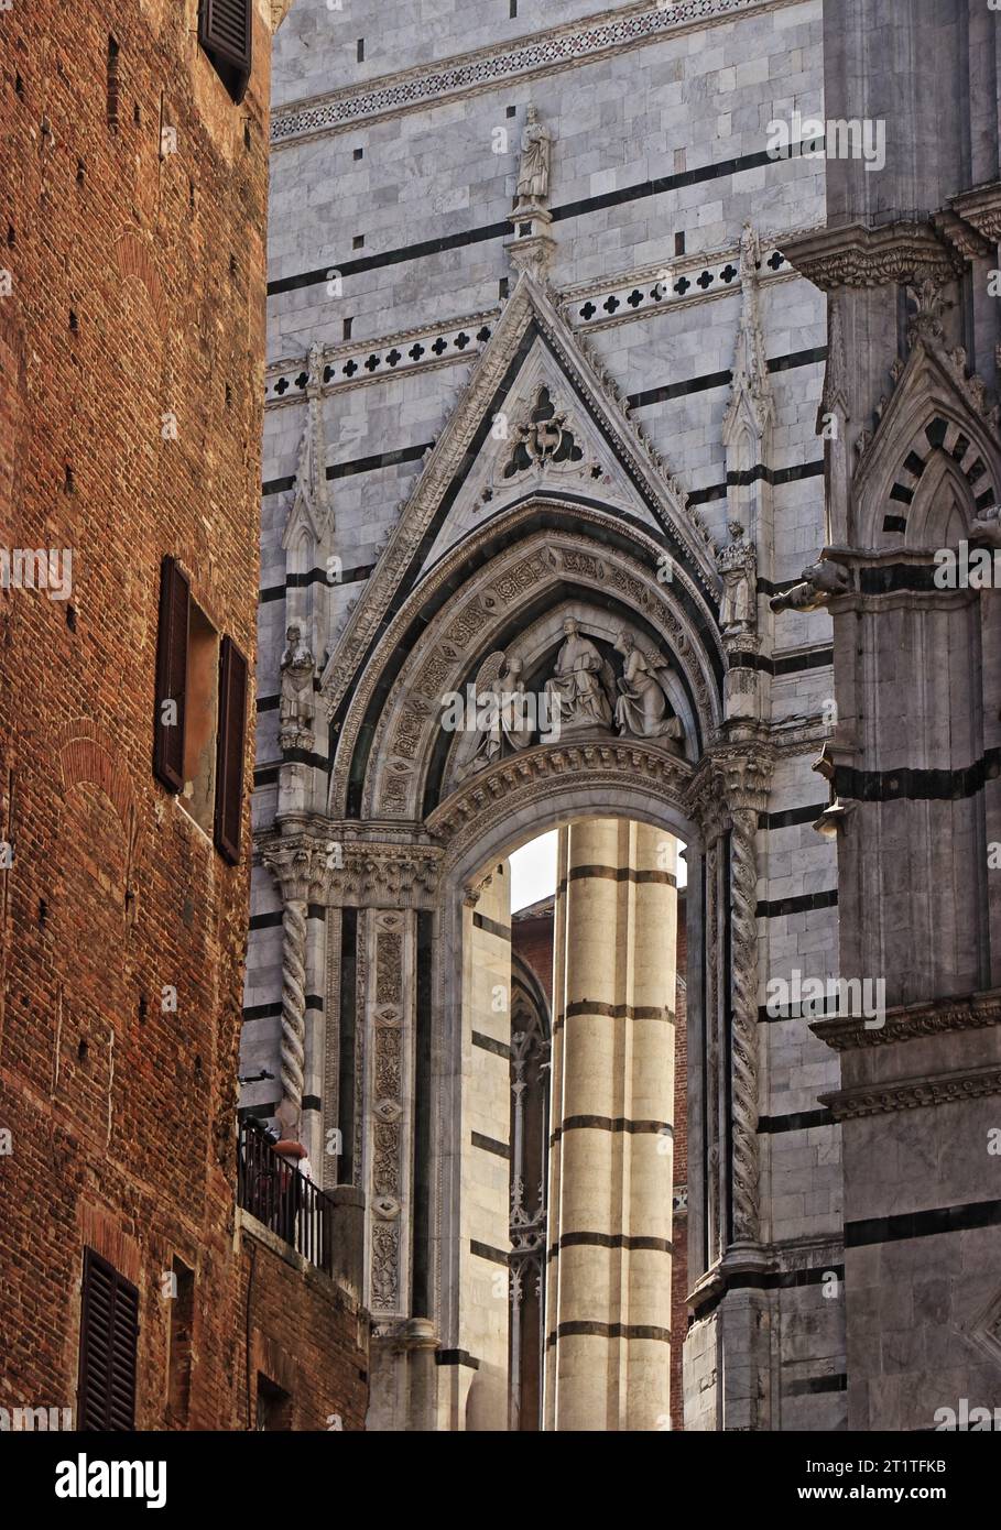
{"type": "Polygon", "coordinates": [[[920,283],[926,277],[941,285],[963,271],[963,259],[938,239],[931,223],[883,228],[851,223],[787,240],[782,251],[823,292],[920,283]]]}

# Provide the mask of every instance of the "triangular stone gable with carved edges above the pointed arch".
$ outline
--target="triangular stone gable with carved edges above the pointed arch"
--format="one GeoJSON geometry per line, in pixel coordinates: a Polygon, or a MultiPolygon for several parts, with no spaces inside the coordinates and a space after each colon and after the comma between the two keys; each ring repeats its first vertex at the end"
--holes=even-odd
{"type": "Polygon", "coordinates": [[[677,479],[523,272],[331,653],[328,698],[351,682],[390,606],[533,496],[606,509],[660,542],[707,592],[718,589],[716,549],[677,479]]]}

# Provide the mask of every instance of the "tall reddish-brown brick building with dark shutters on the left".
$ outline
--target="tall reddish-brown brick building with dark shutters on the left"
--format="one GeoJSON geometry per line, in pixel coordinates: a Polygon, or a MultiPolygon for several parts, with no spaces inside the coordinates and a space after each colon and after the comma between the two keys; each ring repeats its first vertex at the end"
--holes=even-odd
{"type": "Polygon", "coordinates": [[[236,1203],[285,9],[0,15],[5,1427],[364,1417],[351,1209],[236,1203]]]}

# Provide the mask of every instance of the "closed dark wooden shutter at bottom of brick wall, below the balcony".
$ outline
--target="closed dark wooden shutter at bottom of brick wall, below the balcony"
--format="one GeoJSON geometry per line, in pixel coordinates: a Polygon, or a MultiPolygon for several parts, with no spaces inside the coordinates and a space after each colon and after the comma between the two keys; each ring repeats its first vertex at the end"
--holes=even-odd
{"type": "Polygon", "coordinates": [[[139,1293],[93,1248],[84,1250],[78,1429],[135,1429],[139,1293]]]}

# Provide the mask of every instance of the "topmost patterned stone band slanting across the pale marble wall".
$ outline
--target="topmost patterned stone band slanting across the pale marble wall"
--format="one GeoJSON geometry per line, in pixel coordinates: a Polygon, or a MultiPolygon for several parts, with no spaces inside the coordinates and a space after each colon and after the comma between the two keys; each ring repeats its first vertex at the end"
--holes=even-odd
{"type": "MultiPolygon", "coordinates": [[[[291,0],[272,0],[288,6],[291,0]]],[[[565,23],[537,32],[514,46],[504,43],[473,54],[461,54],[435,64],[384,75],[361,89],[351,86],[309,101],[292,101],[272,116],[271,141],[285,142],[317,133],[337,133],[360,122],[399,116],[429,104],[496,90],[499,84],[534,75],[553,75],[580,63],[606,58],[620,49],[657,43],[664,35],[730,21],[736,15],[774,11],[794,0],[675,0],[670,8],[650,8],[649,0],[624,11],[565,23]]],[[[274,12],[272,12],[274,14],[274,12]]]]}

